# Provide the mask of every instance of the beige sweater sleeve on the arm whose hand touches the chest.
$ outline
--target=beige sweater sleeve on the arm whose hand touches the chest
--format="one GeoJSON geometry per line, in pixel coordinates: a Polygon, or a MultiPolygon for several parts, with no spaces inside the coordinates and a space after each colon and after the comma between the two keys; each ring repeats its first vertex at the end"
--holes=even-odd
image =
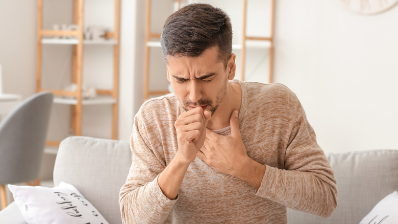
{"type": "Polygon", "coordinates": [[[256,195],[291,209],[331,216],[337,206],[336,179],[298,99],[284,166],[278,169],[266,165],[256,195]]]}

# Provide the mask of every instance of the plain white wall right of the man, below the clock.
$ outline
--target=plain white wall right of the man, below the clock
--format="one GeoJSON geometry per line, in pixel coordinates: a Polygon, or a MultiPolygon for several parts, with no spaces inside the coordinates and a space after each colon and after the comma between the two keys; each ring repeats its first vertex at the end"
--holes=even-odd
{"type": "Polygon", "coordinates": [[[274,81],[299,97],[319,145],[398,149],[398,6],[371,16],[337,0],[276,9],[274,81]]]}

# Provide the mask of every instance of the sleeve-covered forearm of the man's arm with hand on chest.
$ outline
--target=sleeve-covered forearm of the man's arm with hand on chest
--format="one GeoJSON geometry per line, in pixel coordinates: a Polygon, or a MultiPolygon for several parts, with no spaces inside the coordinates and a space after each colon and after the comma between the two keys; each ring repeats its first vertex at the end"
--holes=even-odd
{"type": "Polygon", "coordinates": [[[321,217],[329,217],[337,206],[336,184],[316,170],[296,171],[267,166],[256,195],[321,217]]]}

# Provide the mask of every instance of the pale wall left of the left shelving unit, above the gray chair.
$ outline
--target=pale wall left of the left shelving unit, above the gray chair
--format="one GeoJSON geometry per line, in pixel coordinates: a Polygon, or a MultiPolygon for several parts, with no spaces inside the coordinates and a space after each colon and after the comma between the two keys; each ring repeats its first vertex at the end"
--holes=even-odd
{"type": "Polygon", "coordinates": [[[36,91],[36,1],[0,1],[0,64],[3,92],[36,91]]]}

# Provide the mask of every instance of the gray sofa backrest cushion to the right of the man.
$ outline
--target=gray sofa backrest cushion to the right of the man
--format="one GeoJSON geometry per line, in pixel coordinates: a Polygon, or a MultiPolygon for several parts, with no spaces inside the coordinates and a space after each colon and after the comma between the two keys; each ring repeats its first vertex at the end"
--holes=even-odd
{"type": "Polygon", "coordinates": [[[289,224],[359,223],[385,196],[398,190],[398,150],[327,154],[338,187],[337,208],[321,218],[287,209],[289,224]]]}

